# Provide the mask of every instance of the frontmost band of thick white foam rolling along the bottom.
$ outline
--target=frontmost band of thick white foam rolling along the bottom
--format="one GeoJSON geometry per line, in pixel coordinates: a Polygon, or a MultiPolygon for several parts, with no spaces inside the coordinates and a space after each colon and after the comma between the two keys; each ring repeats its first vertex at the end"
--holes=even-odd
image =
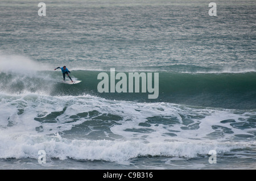
{"type": "Polygon", "coordinates": [[[125,162],[138,156],[168,156],[192,158],[207,155],[209,150],[217,153],[243,148],[230,142],[150,142],[109,140],[68,140],[57,136],[12,134],[0,136],[0,158],[35,158],[38,151],[45,150],[48,158],[88,159],[125,162]]]}

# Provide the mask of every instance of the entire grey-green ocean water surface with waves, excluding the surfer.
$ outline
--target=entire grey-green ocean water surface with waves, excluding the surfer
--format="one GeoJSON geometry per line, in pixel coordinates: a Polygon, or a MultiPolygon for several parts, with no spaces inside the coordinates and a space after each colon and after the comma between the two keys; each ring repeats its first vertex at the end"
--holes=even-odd
{"type": "Polygon", "coordinates": [[[255,1],[39,2],[0,1],[0,169],[256,169],[255,1]]]}

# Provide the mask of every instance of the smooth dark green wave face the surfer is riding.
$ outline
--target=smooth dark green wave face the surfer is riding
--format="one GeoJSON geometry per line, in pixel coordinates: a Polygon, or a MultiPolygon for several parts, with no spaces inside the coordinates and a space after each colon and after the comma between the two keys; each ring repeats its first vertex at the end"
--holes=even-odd
{"type": "MultiPolygon", "coordinates": [[[[133,71],[131,73],[142,73],[133,71]]],[[[115,72],[115,75],[119,71],[115,72]]],[[[110,92],[110,70],[73,70],[71,77],[81,80],[77,85],[65,85],[62,82],[61,71],[27,71],[21,73],[0,73],[0,90],[11,94],[34,92],[49,96],[78,96],[90,94],[106,99],[129,100],[139,102],[167,102],[188,104],[191,106],[221,107],[236,109],[254,109],[256,107],[256,72],[245,73],[159,73],[159,95],[156,99],[148,99],[153,93],[142,92],[142,79],[139,92],[129,92],[129,72],[126,74],[127,92],[110,92]],[[97,89],[102,79],[98,74],[109,75],[109,92],[100,93],[97,89]],[[168,83],[166,83],[168,82],[168,83]]],[[[155,72],[143,71],[143,73],[155,72]]],[[[148,77],[147,77],[148,78],[148,77]]],[[[69,78],[66,77],[68,80],[69,78]]],[[[115,84],[119,79],[115,80],[115,84]]],[[[152,79],[154,87],[154,78],[152,79]]],[[[134,85],[135,87],[135,85],[134,85]]]]}

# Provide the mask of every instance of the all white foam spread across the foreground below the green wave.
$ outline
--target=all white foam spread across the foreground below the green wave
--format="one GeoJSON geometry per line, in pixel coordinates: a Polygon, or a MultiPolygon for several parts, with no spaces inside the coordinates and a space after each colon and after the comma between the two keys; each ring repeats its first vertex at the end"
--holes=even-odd
{"type": "MultiPolygon", "coordinates": [[[[138,156],[171,156],[197,157],[208,154],[209,150],[226,153],[236,148],[255,146],[252,140],[233,141],[234,134],[247,134],[252,129],[237,129],[229,124],[220,123],[221,120],[239,118],[246,119],[251,113],[237,114],[234,110],[213,110],[210,108],[192,108],[171,103],[136,103],[97,98],[96,96],[44,96],[37,94],[5,95],[0,94],[0,158],[38,158],[38,150],[46,151],[48,157],[60,159],[104,159],[106,161],[123,162],[138,156]],[[11,96],[11,98],[10,98],[11,96]],[[46,116],[51,112],[63,111],[56,117],[56,123],[40,123],[35,117],[46,116]],[[18,109],[23,113],[17,115],[18,109]],[[88,140],[86,138],[63,138],[56,132],[69,131],[75,125],[92,119],[83,118],[72,121],[72,115],[82,112],[98,111],[112,113],[123,117],[112,125],[110,130],[122,136],[113,140],[88,140]],[[181,129],[180,114],[200,115],[201,118],[192,119],[191,124],[199,123],[198,129],[181,129]],[[143,127],[148,117],[177,117],[175,124],[152,124],[143,127]],[[8,119],[10,117],[10,119],[8,119]],[[7,125],[11,122],[13,125],[7,125]],[[43,132],[37,132],[36,127],[42,125],[43,132]],[[214,132],[212,125],[230,128],[234,133],[224,134],[224,137],[209,140],[207,134],[214,132]],[[152,131],[136,132],[139,129],[152,131]],[[168,136],[170,131],[177,136],[168,136]]],[[[97,115],[96,115],[97,116],[97,115]]],[[[189,124],[190,125],[190,124],[189,124]]],[[[187,126],[189,126],[187,125],[187,126]]],[[[108,138],[108,137],[106,137],[108,138]]]]}

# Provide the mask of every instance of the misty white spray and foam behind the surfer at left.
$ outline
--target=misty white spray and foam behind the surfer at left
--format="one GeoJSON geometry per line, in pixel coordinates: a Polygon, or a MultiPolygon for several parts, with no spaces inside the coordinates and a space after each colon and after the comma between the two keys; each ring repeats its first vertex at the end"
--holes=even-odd
{"type": "Polygon", "coordinates": [[[0,73],[10,75],[7,76],[7,79],[2,77],[1,92],[48,93],[51,91],[53,83],[56,83],[56,79],[40,71],[44,70],[46,66],[24,56],[0,54],[0,73]]]}

